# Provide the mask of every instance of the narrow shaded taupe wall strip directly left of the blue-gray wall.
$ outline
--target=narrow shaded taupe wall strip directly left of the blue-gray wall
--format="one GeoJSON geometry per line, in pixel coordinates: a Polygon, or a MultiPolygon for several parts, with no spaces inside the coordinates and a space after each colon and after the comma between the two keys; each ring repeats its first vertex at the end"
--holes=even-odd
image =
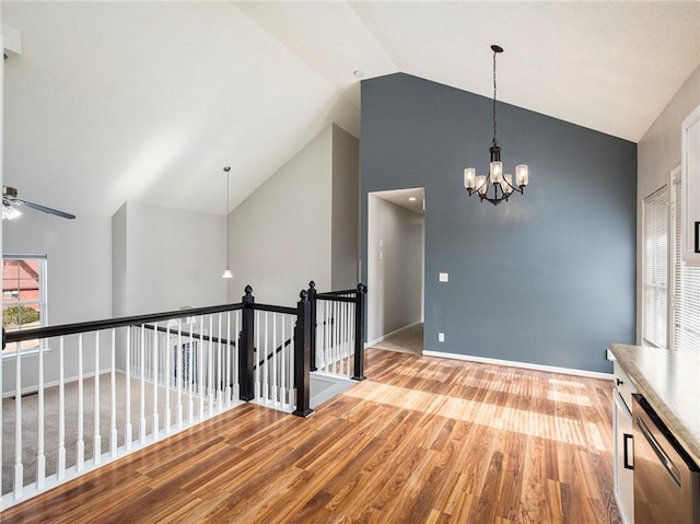
{"type": "MultiPolygon", "coordinates": [[[[330,287],[352,289],[360,276],[360,143],[332,126],[332,237],[330,287]]],[[[326,291],[326,290],[322,290],[326,291]]]]}

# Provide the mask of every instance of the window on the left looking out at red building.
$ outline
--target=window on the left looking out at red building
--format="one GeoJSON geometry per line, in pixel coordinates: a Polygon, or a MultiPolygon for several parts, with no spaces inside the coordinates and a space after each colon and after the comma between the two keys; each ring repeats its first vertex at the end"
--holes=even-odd
{"type": "MultiPolygon", "coordinates": [[[[4,255],[2,257],[2,327],[18,331],[45,326],[46,256],[4,255]]],[[[8,345],[4,351],[37,348],[38,339],[8,345]]]]}

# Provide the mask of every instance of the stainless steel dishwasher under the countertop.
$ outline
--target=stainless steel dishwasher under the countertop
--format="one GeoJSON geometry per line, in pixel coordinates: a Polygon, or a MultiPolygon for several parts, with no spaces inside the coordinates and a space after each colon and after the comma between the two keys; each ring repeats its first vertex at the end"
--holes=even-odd
{"type": "Polygon", "coordinates": [[[632,395],[634,524],[700,524],[700,469],[643,396],[632,395]]]}

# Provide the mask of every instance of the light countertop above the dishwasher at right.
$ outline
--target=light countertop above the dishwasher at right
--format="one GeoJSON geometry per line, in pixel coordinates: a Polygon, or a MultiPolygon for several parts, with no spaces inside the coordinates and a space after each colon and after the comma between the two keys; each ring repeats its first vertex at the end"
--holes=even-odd
{"type": "Polygon", "coordinates": [[[700,464],[700,354],[611,343],[610,352],[700,464]]]}

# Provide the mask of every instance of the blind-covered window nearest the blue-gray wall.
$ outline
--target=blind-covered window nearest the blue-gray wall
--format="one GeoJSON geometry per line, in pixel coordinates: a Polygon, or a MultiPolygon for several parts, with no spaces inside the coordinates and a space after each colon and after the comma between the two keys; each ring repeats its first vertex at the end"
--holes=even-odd
{"type": "Polygon", "coordinates": [[[642,338],[666,347],[668,296],[668,189],[666,186],[642,202],[642,338]]]}

